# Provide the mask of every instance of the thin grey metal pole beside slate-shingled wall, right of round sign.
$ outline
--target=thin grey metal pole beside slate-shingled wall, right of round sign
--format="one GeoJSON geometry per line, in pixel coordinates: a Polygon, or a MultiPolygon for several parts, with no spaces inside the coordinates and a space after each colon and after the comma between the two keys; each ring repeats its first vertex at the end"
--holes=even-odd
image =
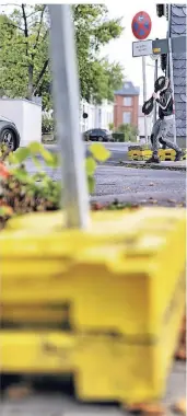
{"type": "Polygon", "coordinates": [[[172,55],[172,39],[171,39],[171,19],[172,19],[172,4],[168,4],[168,70],[167,70],[167,77],[170,74],[171,88],[173,91],[173,105],[174,105],[173,135],[174,135],[174,143],[176,145],[176,117],[175,117],[173,55],[172,55]]]}

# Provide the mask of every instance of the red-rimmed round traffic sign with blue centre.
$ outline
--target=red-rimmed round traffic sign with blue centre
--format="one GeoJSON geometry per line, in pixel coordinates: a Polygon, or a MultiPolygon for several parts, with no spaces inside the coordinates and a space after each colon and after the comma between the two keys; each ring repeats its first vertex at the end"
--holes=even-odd
{"type": "Polygon", "coordinates": [[[144,41],[149,36],[152,27],[150,15],[147,12],[137,13],[132,20],[131,27],[133,36],[139,41],[144,41]]]}

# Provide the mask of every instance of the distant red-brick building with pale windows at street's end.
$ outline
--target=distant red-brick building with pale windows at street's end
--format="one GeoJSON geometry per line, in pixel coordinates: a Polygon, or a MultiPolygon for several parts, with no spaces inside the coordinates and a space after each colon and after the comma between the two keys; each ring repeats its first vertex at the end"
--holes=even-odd
{"type": "Polygon", "coordinates": [[[115,128],[121,124],[131,124],[138,127],[139,94],[139,88],[135,86],[131,81],[126,81],[120,90],[115,91],[115,128]]]}

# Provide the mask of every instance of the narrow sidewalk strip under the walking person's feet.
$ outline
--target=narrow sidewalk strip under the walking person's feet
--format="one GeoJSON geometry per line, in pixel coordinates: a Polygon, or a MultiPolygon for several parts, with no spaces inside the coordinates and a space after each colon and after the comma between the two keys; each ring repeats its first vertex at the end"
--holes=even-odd
{"type": "Polygon", "coordinates": [[[142,169],[157,169],[157,170],[170,170],[170,171],[186,171],[186,160],[180,162],[174,161],[163,161],[161,163],[150,163],[147,164],[145,161],[121,161],[120,165],[126,167],[142,167],[142,169]]]}

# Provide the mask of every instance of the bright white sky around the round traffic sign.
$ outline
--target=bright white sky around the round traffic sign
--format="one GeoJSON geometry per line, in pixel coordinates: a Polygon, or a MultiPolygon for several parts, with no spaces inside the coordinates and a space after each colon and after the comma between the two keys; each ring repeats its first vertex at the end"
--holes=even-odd
{"type": "MultiPolygon", "coordinates": [[[[156,7],[155,3],[141,2],[140,7],[138,3],[132,0],[106,2],[109,18],[122,18],[122,26],[125,31],[120,38],[112,41],[107,45],[102,55],[108,56],[109,61],[120,62],[125,68],[125,77],[127,80],[130,80],[135,83],[136,86],[140,86],[140,103],[143,101],[143,83],[142,83],[142,58],[132,58],[132,42],[136,42],[132,32],[131,32],[131,21],[133,15],[139,11],[145,11],[152,20],[152,31],[148,39],[165,38],[167,32],[167,21],[165,18],[156,16],[156,7]]],[[[147,93],[148,99],[154,90],[154,61],[147,57],[147,93]],[[150,67],[149,65],[153,66],[150,67]]],[[[161,74],[162,71],[160,70],[161,74]]]]}

